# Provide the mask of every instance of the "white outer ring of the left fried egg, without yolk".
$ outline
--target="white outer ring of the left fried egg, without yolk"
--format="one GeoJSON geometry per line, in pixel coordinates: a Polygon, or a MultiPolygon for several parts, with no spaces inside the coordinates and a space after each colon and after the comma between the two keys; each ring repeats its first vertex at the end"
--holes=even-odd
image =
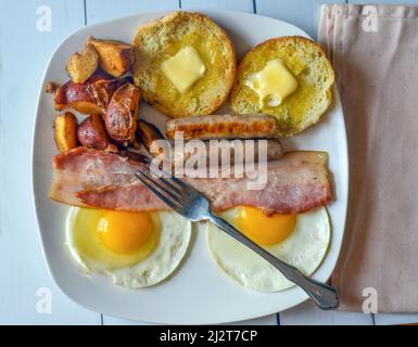
{"type": "Polygon", "coordinates": [[[103,270],[103,265],[84,259],[73,242],[73,221],[78,208],[73,207],[66,223],[66,244],[73,259],[85,273],[105,273],[117,285],[140,288],[157,284],[168,278],[186,256],[190,239],[191,222],[174,211],[157,211],[160,239],[152,253],[138,264],[114,270],[103,270]]]}

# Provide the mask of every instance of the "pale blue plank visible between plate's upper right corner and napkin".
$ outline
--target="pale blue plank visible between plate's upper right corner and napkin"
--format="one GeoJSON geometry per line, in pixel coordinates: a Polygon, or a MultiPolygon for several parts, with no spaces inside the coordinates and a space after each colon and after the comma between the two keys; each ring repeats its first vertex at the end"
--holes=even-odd
{"type": "Polygon", "coordinates": [[[322,3],[345,3],[345,0],[256,0],[256,11],[294,24],[316,39],[322,3]]]}

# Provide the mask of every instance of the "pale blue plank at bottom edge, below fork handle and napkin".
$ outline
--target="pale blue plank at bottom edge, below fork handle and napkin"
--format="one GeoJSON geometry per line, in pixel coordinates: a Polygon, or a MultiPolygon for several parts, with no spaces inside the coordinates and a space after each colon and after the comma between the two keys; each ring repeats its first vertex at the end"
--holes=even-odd
{"type": "Polygon", "coordinates": [[[372,325],[371,314],[322,311],[309,301],[280,313],[280,325],[372,325]]]}

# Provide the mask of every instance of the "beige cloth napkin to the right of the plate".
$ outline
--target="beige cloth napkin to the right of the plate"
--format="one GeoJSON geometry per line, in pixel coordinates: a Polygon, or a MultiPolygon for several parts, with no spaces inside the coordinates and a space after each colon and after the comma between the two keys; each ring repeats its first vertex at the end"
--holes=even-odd
{"type": "Polygon", "coordinates": [[[376,290],[379,312],[418,312],[418,8],[324,5],[319,42],[335,69],[350,151],[331,283],[343,310],[362,311],[362,294],[376,290]]]}

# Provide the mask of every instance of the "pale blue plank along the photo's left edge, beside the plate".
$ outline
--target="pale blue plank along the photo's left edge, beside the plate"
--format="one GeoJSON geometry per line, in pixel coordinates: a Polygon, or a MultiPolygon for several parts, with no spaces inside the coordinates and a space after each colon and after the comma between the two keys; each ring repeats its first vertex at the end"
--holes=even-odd
{"type": "Polygon", "coordinates": [[[100,314],[72,303],[47,271],[30,183],[31,131],[42,74],[56,46],[84,26],[84,2],[27,0],[23,5],[1,0],[0,13],[0,165],[9,168],[0,180],[0,324],[99,324],[100,314]],[[49,11],[51,31],[39,31],[49,29],[48,21],[38,22],[49,11]]]}

